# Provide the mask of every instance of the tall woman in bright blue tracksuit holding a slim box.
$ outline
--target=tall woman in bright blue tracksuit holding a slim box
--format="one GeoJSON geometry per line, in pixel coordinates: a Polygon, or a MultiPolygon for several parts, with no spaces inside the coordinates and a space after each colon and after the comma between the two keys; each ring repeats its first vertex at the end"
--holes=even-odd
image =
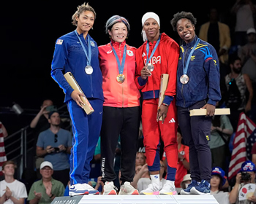
{"type": "Polygon", "coordinates": [[[102,125],[102,72],[99,68],[97,43],[88,34],[96,13],[88,4],[82,4],[73,15],[75,31],[56,40],[51,76],[64,90],[70,118],[72,119],[72,151],[70,155],[69,195],[98,193],[87,184],[90,161],[94,155],[102,125]],[[90,66],[90,70],[86,70],[90,66]],[[73,90],[64,78],[71,72],[94,109],[87,115],[81,109],[80,93],[73,90]],[[92,73],[91,73],[92,72],[92,73]]]}

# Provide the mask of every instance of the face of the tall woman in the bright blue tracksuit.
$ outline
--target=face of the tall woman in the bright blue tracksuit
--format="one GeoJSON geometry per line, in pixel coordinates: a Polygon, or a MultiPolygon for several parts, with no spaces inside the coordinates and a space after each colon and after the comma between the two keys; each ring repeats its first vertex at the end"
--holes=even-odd
{"type": "Polygon", "coordinates": [[[92,26],[94,26],[95,16],[91,11],[85,11],[80,14],[80,16],[76,16],[75,20],[78,22],[78,33],[88,33],[92,26]]]}

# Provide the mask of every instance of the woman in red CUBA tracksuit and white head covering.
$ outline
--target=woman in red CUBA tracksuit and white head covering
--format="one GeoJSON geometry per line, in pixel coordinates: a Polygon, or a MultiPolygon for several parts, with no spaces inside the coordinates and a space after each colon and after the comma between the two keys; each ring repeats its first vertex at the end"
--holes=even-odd
{"type": "Polygon", "coordinates": [[[176,114],[176,71],[178,65],[179,46],[165,33],[159,34],[159,17],[153,12],[143,16],[143,32],[147,41],[136,52],[136,78],[135,82],[143,93],[142,125],[144,146],[146,147],[146,162],[151,173],[151,184],[146,190],[140,192],[143,195],[174,195],[174,186],[177,160],[177,114],[176,114]],[[157,40],[159,40],[158,46],[157,40]],[[147,44],[148,53],[147,53],[147,44]],[[149,60],[154,65],[150,73],[146,68],[147,55],[151,56],[154,47],[157,49],[149,60]],[[169,74],[165,99],[158,109],[159,87],[161,74],[169,74]],[[159,117],[163,118],[158,121],[159,117]],[[167,183],[160,186],[160,137],[165,144],[164,150],[167,157],[167,183]],[[159,191],[161,189],[161,191],[159,191]]]}

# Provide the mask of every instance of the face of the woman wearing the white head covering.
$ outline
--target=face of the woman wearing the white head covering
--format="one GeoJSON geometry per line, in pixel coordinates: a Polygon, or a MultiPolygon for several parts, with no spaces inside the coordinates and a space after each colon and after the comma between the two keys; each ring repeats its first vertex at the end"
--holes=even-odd
{"type": "Polygon", "coordinates": [[[157,20],[154,20],[154,18],[148,18],[143,26],[143,30],[146,32],[146,36],[150,42],[157,41],[160,33],[159,29],[157,20]]]}

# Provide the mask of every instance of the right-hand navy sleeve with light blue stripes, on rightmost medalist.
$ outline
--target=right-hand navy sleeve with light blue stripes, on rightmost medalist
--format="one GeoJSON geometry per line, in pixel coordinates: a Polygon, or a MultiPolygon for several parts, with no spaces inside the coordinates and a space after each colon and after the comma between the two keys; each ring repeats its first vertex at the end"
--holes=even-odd
{"type": "Polygon", "coordinates": [[[219,60],[217,52],[211,45],[207,47],[204,58],[204,69],[208,76],[208,104],[216,106],[222,98],[219,86],[219,60]]]}

